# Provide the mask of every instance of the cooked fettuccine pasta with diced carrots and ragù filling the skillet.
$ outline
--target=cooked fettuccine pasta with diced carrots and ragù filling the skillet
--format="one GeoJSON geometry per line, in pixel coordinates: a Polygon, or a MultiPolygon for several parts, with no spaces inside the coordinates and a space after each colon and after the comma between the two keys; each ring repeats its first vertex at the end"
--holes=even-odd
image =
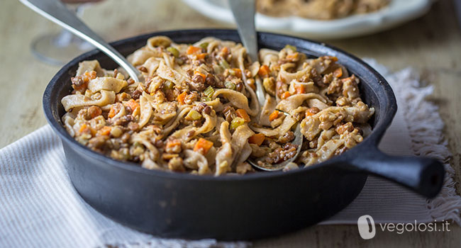
{"type": "Polygon", "coordinates": [[[369,132],[374,108],[335,57],[309,59],[291,45],[259,56],[252,62],[241,44],[216,38],[186,45],[152,37],[128,57],[144,82],[96,60],[81,62],[72,94],[61,101],[62,122],[82,145],[114,159],[216,176],[254,171],[247,159],[270,167],[294,157],[296,125],[305,137],[296,164],[304,166],[341,154],[369,132]],[[257,80],[267,92],[264,106],[257,80]]]}

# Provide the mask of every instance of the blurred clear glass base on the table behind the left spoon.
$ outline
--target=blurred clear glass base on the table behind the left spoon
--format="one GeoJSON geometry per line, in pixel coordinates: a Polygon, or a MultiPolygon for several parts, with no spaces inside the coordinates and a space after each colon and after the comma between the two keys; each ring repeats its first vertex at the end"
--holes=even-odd
{"type": "Polygon", "coordinates": [[[30,47],[38,60],[52,65],[63,65],[93,48],[91,44],[66,30],[57,34],[42,35],[35,39],[30,47]]]}

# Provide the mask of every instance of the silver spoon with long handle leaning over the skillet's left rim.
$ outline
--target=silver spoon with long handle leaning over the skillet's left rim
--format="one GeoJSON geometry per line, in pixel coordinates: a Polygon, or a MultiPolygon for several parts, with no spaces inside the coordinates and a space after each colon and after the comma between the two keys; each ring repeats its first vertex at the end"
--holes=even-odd
{"type": "Polygon", "coordinates": [[[74,33],[74,35],[79,36],[83,40],[91,43],[99,50],[104,52],[109,56],[113,61],[120,65],[123,69],[128,72],[128,75],[135,80],[140,81],[143,79],[143,75],[133,67],[128,60],[126,60],[123,55],[121,55],[117,50],[115,50],[111,45],[107,44],[99,35],[93,32],[88,28],[85,23],[80,21],[80,19],[75,16],[72,11],[69,11],[64,4],[57,0],[19,0],[24,5],[28,6],[33,11],[40,13],[40,15],[45,16],[48,20],[57,23],[61,26],[74,33]]]}

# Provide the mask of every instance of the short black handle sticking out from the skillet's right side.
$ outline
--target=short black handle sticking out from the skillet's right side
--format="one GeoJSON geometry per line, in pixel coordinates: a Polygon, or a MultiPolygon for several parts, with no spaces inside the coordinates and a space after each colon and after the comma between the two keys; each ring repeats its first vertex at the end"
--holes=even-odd
{"type": "Polygon", "coordinates": [[[394,181],[427,198],[440,192],[445,169],[437,159],[391,156],[377,148],[367,149],[352,159],[352,167],[394,181]]]}

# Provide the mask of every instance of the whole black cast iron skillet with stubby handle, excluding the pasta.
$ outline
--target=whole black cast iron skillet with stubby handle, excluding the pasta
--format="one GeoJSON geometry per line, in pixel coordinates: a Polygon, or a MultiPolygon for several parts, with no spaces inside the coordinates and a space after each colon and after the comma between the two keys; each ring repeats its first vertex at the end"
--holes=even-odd
{"type": "MultiPolygon", "coordinates": [[[[206,36],[239,41],[235,30],[177,30],[151,33],[112,43],[123,55],[145,45],[154,35],[176,43],[194,43],[206,36]]],[[[161,237],[222,240],[255,239],[298,230],[331,217],[362,190],[367,174],[382,176],[432,198],[440,191],[444,169],[435,159],[391,157],[377,145],[396,113],[389,84],[362,60],[310,40],[258,33],[259,47],[280,50],[296,46],[311,57],[331,55],[360,78],[362,99],[375,108],[370,136],[356,147],[326,162],[288,172],[243,176],[194,176],[143,169],[93,152],[67,134],[60,120],[60,100],[70,94],[72,77],[82,60],[116,64],[93,50],[65,65],[43,96],[48,122],[60,136],[67,171],[87,203],[113,220],[161,237]]]]}

